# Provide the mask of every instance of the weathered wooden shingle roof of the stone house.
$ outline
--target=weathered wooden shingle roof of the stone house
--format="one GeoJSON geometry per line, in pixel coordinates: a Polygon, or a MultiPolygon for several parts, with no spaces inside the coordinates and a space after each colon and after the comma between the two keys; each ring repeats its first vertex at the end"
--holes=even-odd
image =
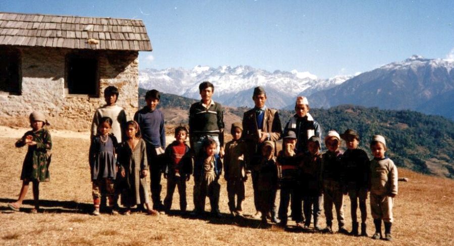
{"type": "Polygon", "coordinates": [[[0,45],[151,51],[141,20],[0,12],[0,45]]]}

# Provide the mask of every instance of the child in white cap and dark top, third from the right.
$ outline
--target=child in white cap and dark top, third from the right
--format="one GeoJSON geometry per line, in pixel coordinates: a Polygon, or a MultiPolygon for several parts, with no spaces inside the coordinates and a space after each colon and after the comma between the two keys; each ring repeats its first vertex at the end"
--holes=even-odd
{"type": "MultiPolygon", "coordinates": [[[[325,146],[328,149],[322,155],[322,180],[323,180],[323,209],[325,210],[325,232],[332,233],[332,205],[336,209],[339,233],[347,234],[344,228],[344,167],[342,166],[342,154],[339,150],[341,137],[331,130],[325,137],[325,146]]],[[[346,194],[347,195],[347,194],[346,194]]]]}

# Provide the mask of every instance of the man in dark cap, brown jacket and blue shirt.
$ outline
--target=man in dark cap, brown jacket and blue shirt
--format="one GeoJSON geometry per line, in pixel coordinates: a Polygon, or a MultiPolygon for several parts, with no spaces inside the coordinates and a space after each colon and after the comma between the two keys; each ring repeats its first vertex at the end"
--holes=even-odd
{"type": "MultiPolygon", "coordinates": [[[[243,138],[248,144],[249,156],[259,154],[260,147],[265,141],[272,141],[274,149],[276,149],[276,141],[281,138],[282,126],[280,124],[279,114],[277,110],[270,109],[265,106],[266,93],[262,87],[254,88],[252,96],[255,107],[243,115],[243,138]]],[[[256,163],[251,163],[254,166],[256,163]]],[[[254,188],[254,204],[257,209],[257,183],[254,172],[252,172],[252,185],[254,188]]],[[[277,206],[273,207],[273,221],[277,222],[277,206]]],[[[260,212],[257,212],[254,217],[260,218],[260,212]]]]}

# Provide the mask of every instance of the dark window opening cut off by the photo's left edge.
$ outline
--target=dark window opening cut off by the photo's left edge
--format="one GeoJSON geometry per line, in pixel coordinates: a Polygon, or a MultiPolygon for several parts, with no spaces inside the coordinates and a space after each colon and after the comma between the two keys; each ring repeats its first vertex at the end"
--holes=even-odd
{"type": "Polygon", "coordinates": [[[12,95],[20,95],[22,92],[19,50],[0,48],[0,91],[12,95]]]}

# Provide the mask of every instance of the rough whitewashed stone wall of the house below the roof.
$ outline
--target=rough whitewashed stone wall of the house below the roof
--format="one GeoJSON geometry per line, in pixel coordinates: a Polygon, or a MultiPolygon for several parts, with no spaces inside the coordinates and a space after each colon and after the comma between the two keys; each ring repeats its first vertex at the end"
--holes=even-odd
{"type": "Polygon", "coordinates": [[[138,52],[92,51],[98,57],[99,96],[72,95],[65,89],[65,58],[71,49],[22,47],[22,94],[0,94],[0,122],[12,126],[28,125],[33,110],[45,113],[58,129],[89,130],[96,108],[103,105],[104,88],[119,88],[117,104],[132,118],[138,107],[138,52]],[[14,121],[25,120],[26,122],[14,121]]]}

